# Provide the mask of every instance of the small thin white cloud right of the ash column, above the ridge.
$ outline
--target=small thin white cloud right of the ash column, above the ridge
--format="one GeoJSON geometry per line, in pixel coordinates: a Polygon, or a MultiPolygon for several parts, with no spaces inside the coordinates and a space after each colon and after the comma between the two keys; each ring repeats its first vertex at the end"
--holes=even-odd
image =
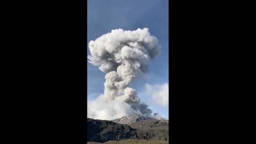
{"type": "Polygon", "coordinates": [[[151,95],[157,105],[166,107],[169,105],[169,85],[150,85],[146,84],[147,93],[151,95]]]}

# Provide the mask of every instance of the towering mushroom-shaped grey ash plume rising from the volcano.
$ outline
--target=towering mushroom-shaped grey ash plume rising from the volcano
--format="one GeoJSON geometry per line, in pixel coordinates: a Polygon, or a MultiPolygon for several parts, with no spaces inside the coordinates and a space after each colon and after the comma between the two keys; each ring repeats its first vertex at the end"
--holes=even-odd
{"type": "Polygon", "coordinates": [[[111,30],[111,33],[91,41],[89,49],[89,62],[106,73],[101,99],[125,102],[143,115],[151,114],[148,105],[141,103],[137,92],[129,87],[137,74],[148,72],[148,61],[155,59],[161,51],[158,39],[150,35],[149,29],[111,30]]]}

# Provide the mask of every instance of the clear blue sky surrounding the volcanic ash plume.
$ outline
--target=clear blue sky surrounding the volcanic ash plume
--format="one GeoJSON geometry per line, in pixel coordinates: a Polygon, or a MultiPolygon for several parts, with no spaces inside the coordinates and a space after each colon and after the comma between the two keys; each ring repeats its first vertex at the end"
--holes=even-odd
{"type": "MultiPolygon", "coordinates": [[[[168,1],[167,0],[89,0],[87,3],[87,52],[88,44],[113,29],[136,30],[149,28],[162,46],[157,59],[149,63],[150,72],[145,77],[134,79],[131,87],[137,90],[142,102],[146,102],[154,113],[168,117],[168,107],[156,105],[146,93],[145,84],[169,83],[168,47],[168,1]]],[[[94,100],[103,93],[105,74],[97,66],[87,62],[87,99],[94,100]]]]}

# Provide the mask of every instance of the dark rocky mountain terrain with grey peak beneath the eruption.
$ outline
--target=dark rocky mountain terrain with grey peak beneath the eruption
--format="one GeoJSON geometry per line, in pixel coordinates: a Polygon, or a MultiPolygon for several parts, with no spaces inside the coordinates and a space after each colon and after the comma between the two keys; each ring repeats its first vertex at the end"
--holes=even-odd
{"type": "Polygon", "coordinates": [[[141,115],[121,117],[113,121],[87,118],[87,141],[127,139],[168,141],[169,121],[146,119],[141,115]]]}

